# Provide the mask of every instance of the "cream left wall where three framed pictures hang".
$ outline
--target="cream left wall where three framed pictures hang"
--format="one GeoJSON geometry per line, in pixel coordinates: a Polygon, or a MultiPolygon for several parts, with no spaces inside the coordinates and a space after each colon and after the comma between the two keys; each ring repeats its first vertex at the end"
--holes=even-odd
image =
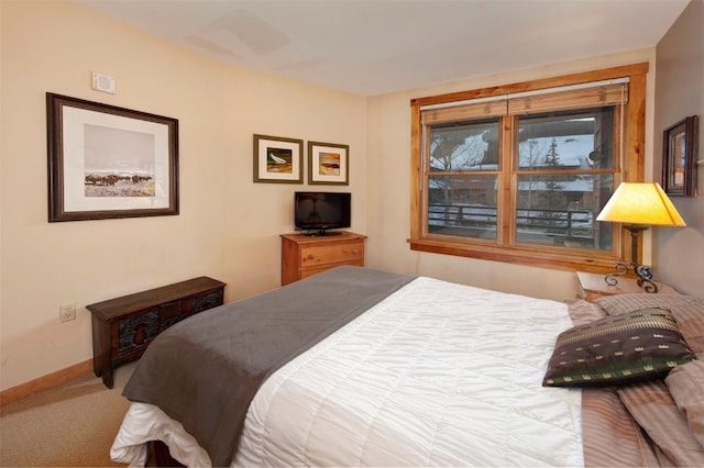
{"type": "Polygon", "coordinates": [[[223,67],[69,1],[3,0],[0,19],[1,390],[92,357],[86,304],[200,275],[228,301],[279,285],[278,234],[306,186],[253,183],[253,133],[349,144],[366,231],[364,98],[223,67]],[[177,118],[180,215],[48,223],[47,91],[177,118]]]}

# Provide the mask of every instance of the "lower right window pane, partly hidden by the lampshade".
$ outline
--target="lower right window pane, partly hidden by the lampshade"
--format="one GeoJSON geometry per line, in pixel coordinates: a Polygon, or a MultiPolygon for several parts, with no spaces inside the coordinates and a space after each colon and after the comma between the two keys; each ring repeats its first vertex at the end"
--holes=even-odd
{"type": "Polygon", "coordinates": [[[524,244],[612,249],[612,224],[596,221],[613,175],[519,175],[516,239],[524,244]]]}

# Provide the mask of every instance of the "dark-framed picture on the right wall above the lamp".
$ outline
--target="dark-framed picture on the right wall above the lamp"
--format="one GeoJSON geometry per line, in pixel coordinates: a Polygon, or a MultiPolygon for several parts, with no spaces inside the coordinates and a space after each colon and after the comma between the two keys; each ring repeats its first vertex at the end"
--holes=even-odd
{"type": "Polygon", "coordinates": [[[662,188],[671,197],[696,193],[698,116],[691,115],[664,131],[662,137],[662,188]]]}

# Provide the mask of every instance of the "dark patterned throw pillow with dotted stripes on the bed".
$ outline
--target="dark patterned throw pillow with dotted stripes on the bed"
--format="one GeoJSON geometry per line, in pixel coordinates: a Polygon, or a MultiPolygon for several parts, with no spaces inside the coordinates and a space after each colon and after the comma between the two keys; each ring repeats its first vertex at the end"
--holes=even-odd
{"type": "Polygon", "coordinates": [[[669,309],[640,309],[562,332],[542,385],[620,386],[664,377],[692,359],[669,309]]]}

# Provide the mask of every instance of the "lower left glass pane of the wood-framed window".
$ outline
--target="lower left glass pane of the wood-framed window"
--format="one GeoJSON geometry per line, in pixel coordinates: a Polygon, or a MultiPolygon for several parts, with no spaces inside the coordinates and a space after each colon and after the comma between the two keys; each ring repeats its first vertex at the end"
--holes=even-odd
{"type": "Polygon", "coordinates": [[[496,239],[496,176],[431,176],[428,232],[496,239]]]}

